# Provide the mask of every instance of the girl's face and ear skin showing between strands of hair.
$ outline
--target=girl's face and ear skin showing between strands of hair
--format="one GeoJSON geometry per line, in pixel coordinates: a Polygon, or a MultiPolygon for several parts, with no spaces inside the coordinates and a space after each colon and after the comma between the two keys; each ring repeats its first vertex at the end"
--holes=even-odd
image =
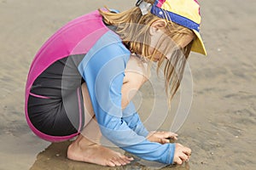
{"type": "MultiPolygon", "coordinates": [[[[151,37],[151,43],[150,43],[150,47],[149,47],[149,53],[150,53],[150,54],[153,54],[153,53],[154,53],[154,47],[157,46],[157,42],[158,42],[159,38],[160,38],[160,35],[152,35],[152,37],[151,37]]],[[[189,44],[189,42],[191,42],[193,39],[194,39],[194,36],[193,36],[193,35],[189,35],[189,34],[188,34],[188,35],[185,35],[185,36],[183,36],[183,41],[181,42],[181,44],[179,44],[179,46],[180,46],[181,48],[184,48],[184,47],[186,47],[186,46],[189,44]]],[[[172,40],[170,39],[170,41],[172,41],[172,40]]],[[[170,42],[170,43],[173,43],[173,41],[170,42]]],[[[163,46],[167,46],[168,44],[167,44],[167,42],[166,42],[165,44],[162,44],[162,45],[163,45],[163,46]]],[[[161,51],[161,49],[159,49],[159,50],[152,56],[154,62],[156,62],[156,61],[158,61],[158,60],[160,59],[161,54],[160,54],[159,51],[161,51]]],[[[167,55],[167,56],[170,56],[170,55],[167,55]]],[[[166,59],[168,59],[168,58],[166,57],[166,59]]]]}

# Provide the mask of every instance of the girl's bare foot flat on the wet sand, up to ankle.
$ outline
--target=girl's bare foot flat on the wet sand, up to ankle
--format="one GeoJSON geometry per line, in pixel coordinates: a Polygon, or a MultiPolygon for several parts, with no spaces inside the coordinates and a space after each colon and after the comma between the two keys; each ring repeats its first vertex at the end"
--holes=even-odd
{"type": "Polygon", "coordinates": [[[68,146],[67,158],[73,161],[85,161],[102,166],[122,166],[130,163],[133,158],[121,155],[119,152],[103,147],[101,144],[92,143],[79,135],[72,144],[68,146]]]}

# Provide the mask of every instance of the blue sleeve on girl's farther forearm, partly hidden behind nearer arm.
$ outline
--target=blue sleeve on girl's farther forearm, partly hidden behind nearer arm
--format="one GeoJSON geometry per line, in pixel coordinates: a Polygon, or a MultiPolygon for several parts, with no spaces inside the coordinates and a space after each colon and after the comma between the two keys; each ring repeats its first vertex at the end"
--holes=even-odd
{"type": "Polygon", "coordinates": [[[141,122],[132,101],[123,110],[122,119],[127,123],[128,127],[130,127],[138,135],[143,137],[148,136],[148,130],[143,126],[143,122],[141,122]]]}

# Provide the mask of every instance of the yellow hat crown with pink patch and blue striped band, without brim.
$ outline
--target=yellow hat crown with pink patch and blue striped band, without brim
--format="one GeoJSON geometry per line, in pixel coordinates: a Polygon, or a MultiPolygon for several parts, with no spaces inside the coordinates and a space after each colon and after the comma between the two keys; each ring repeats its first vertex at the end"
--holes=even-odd
{"type": "Polygon", "coordinates": [[[191,30],[200,30],[200,6],[196,0],[156,0],[150,12],[191,30]]]}

